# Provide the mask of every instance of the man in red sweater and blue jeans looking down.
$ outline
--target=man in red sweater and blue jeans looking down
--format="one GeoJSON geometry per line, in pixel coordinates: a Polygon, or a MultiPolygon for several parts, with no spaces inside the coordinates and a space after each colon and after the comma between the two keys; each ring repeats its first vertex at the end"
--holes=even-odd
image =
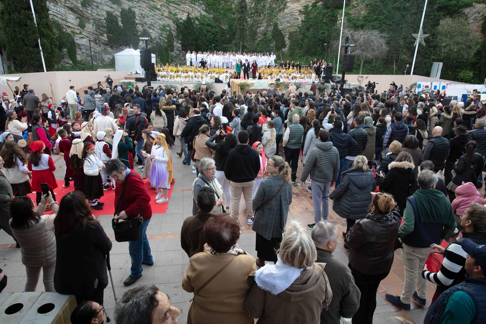
{"type": "Polygon", "coordinates": [[[127,168],[120,160],[115,159],[106,162],[105,171],[108,176],[119,183],[115,187],[115,214],[117,219],[132,219],[139,214],[143,218],[140,226],[140,238],[137,241],[128,242],[132,268],[130,276],[126,278],[123,285],[130,286],[142,276],[143,264],[154,265],[149,240],[147,239],[147,227],[152,217],[150,196],[139,174],[127,168]],[[123,190],[124,187],[128,190],[123,190]]]}

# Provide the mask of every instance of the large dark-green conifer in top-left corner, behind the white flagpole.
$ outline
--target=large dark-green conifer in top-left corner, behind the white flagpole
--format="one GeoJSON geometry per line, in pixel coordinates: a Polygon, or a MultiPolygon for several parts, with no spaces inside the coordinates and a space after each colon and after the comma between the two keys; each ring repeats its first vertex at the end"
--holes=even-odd
{"type": "Polygon", "coordinates": [[[5,37],[7,55],[15,69],[22,72],[44,71],[38,43],[40,37],[46,69],[52,70],[57,62],[58,44],[54,37],[46,1],[33,0],[37,28],[28,0],[2,0],[1,2],[1,30],[5,37]],[[21,37],[18,36],[19,30],[22,31],[21,37]]]}

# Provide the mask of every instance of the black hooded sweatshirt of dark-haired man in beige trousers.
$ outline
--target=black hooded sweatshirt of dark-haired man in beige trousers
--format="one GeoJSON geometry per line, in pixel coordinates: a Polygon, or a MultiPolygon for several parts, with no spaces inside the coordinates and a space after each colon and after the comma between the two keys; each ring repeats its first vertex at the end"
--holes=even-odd
{"type": "Polygon", "coordinates": [[[224,171],[226,179],[233,182],[255,180],[260,171],[260,156],[257,150],[248,144],[236,145],[228,152],[224,171]]]}

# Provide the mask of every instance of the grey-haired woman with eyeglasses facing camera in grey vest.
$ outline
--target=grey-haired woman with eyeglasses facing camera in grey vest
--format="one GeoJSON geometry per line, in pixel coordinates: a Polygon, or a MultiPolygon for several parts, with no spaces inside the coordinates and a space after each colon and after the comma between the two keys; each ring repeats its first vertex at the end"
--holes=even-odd
{"type": "MultiPolygon", "coordinates": [[[[227,144],[229,145],[229,142],[227,144]]],[[[214,160],[211,158],[205,157],[199,161],[198,168],[199,168],[199,175],[197,176],[196,180],[192,182],[192,215],[196,215],[197,211],[199,210],[199,208],[196,206],[197,195],[199,194],[199,191],[203,187],[209,187],[214,191],[214,200],[216,200],[216,205],[214,205],[214,208],[210,213],[214,215],[224,213],[222,207],[223,188],[221,187],[221,184],[218,182],[218,180],[215,177],[216,162],[214,162],[214,160]]]]}

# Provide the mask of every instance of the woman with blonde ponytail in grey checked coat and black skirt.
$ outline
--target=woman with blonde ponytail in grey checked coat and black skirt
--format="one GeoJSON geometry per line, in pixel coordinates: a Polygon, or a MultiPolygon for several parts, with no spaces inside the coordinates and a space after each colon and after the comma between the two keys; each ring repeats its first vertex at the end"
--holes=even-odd
{"type": "Polygon", "coordinates": [[[287,223],[289,206],[292,203],[291,169],[282,157],[274,155],[266,162],[267,177],[261,181],[258,191],[253,195],[252,230],[257,233],[257,266],[263,267],[265,261],[277,262],[282,233],[287,223]]]}

